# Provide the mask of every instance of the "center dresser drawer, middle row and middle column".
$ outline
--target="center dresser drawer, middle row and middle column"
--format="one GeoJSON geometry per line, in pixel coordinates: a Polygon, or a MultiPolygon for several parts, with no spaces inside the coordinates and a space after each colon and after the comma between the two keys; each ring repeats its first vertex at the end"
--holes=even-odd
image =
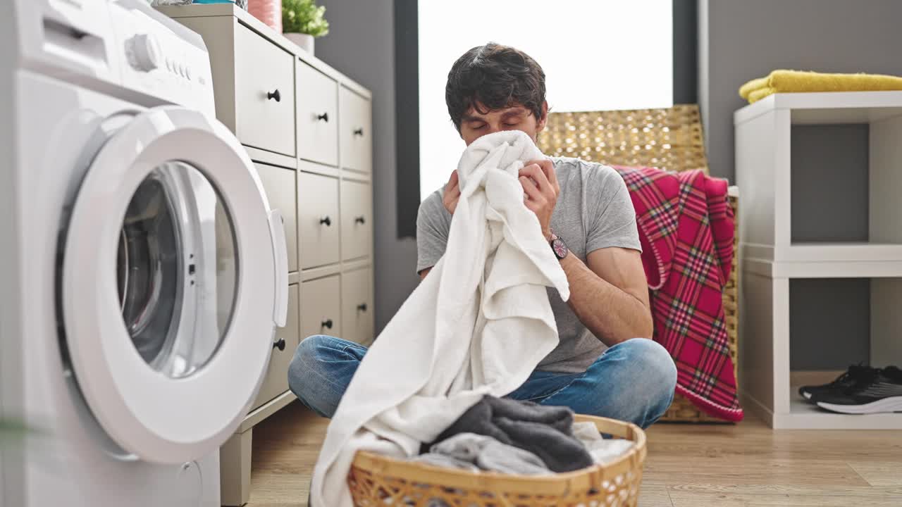
{"type": "Polygon", "coordinates": [[[338,180],[298,173],[298,234],[300,267],[308,269],[338,262],[338,180]]]}

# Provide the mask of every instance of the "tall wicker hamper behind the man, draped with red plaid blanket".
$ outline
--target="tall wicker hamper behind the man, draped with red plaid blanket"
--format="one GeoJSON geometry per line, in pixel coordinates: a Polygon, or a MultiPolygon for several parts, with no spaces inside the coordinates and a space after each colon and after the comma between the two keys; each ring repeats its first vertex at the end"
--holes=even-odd
{"type": "MultiPolygon", "coordinates": [[[[702,120],[698,106],[677,105],[662,109],[551,113],[538,147],[547,155],[578,157],[613,165],[657,167],[665,171],[708,171],[704,154],[702,120]]],[[[732,189],[735,190],[735,189],[732,189]]],[[[733,371],[739,364],[737,294],[739,291],[739,207],[731,192],[736,217],[730,280],[723,289],[723,311],[733,371]]],[[[737,384],[738,384],[737,374],[737,384]]],[[[660,420],[725,422],[698,410],[680,394],[660,420]]]]}

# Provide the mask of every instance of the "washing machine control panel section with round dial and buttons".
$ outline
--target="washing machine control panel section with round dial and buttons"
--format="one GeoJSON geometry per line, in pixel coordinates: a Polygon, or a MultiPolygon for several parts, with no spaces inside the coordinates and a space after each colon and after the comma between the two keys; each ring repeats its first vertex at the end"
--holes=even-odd
{"type": "Polygon", "coordinates": [[[210,61],[201,37],[138,0],[110,5],[125,88],[215,115],[210,61]]]}

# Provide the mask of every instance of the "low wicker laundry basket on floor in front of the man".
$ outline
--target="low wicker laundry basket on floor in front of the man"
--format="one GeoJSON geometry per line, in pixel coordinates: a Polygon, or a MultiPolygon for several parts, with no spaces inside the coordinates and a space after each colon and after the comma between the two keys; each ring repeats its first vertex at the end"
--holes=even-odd
{"type": "Polygon", "coordinates": [[[354,505],[634,507],[645,462],[645,433],[619,420],[580,415],[575,419],[594,422],[602,433],[630,439],[636,445],[610,464],[543,476],[474,473],[358,452],[347,476],[354,505]]]}

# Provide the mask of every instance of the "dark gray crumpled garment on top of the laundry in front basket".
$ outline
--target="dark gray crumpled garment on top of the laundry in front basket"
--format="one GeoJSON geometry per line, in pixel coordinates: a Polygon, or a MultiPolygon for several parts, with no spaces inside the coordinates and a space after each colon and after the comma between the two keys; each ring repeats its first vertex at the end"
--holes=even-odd
{"type": "Polygon", "coordinates": [[[567,407],[485,396],[428,447],[460,433],[485,435],[525,449],[552,472],[571,472],[594,464],[583,443],[573,436],[573,410],[567,407]]]}

